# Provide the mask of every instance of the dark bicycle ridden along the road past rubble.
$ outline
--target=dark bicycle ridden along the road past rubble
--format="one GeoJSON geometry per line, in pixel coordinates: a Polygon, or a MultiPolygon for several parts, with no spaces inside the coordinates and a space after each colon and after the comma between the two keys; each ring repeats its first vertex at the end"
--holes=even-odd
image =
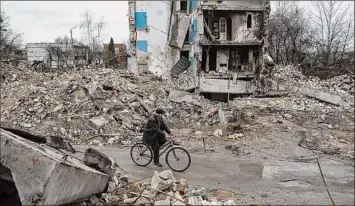
{"type": "MultiPolygon", "coordinates": [[[[166,164],[176,172],[183,172],[187,170],[187,168],[189,168],[191,164],[191,157],[190,154],[184,148],[175,145],[179,145],[179,144],[176,144],[171,140],[167,141],[164,145],[162,145],[159,148],[160,151],[165,148],[163,152],[159,152],[159,157],[163,155],[166,151],[168,151],[165,156],[166,164]],[[177,154],[178,152],[181,152],[181,154],[178,155],[177,154]],[[187,161],[185,162],[183,161],[184,157],[187,159],[187,161]],[[177,168],[175,166],[173,167],[172,166],[173,160],[176,160],[177,163],[182,162],[182,167],[181,168],[177,168]]],[[[147,144],[143,142],[138,142],[134,144],[131,148],[131,158],[136,165],[145,167],[149,165],[153,160],[153,150],[147,144]],[[137,152],[138,155],[136,158],[133,157],[135,152],[137,152]],[[142,160],[142,162],[139,162],[140,160],[142,160]],[[144,162],[145,160],[146,162],[144,162]]]]}

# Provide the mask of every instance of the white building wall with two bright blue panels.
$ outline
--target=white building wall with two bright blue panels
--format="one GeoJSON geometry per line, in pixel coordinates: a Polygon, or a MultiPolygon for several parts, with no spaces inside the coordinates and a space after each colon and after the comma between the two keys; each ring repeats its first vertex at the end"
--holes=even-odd
{"type": "Polygon", "coordinates": [[[128,67],[134,73],[166,75],[175,61],[168,46],[171,3],[129,2],[130,51],[128,67]]]}

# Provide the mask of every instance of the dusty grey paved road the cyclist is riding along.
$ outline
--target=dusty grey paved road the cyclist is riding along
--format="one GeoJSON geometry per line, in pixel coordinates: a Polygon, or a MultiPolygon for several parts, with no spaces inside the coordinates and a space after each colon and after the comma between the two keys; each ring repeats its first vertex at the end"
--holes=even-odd
{"type": "MultiPolygon", "coordinates": [[[[84,151],[88,146],[77,146],[84,151]]],[[[169,169],[154,165],[136,166],[129,148],[93,147],[114,158],[132,178],[152,175],[154,170],[169,169]]],[[[276,160],[250,160],[231,155],[191,154],[190,168],[174,172],[190,185],[220,188],[236,193],[237,204],[331,204],[317,163],[276,160]]],[[[164,162],[165,161],[161,161],[164,162]]],[[[354,167],[321,160],[330,193],[337,205],[354,204],[354,167]]]]}

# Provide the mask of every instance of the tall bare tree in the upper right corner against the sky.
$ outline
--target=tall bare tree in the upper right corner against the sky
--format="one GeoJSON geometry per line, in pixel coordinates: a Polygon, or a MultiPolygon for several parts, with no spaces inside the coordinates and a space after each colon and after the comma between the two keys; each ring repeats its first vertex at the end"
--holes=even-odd
{"type": "Polygon", "coordinates": [[[317,1],[312,4],[315,49],[326,66],[337,63],[346,51],[353,49],[354,15],[350,3],[317,1]]]}

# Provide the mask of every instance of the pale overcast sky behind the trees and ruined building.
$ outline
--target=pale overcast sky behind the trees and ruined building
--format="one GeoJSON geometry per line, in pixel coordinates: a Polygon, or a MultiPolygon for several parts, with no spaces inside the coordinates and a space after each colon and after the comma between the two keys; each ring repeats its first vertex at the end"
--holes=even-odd
{"type": "MultiPolygon", "coordinates": [[[[312,8],[309,1],[297,3],[307,10],[312,8]]],[[[271,9],[274,5],[272,1],[271,9]]],[[[1,9],[11,17],[12,28],[24,33],[24,43],[70,36],[69,29],[79,25],[86,9],[95,13],[96,19],[103,16],[105,43],[110,37],[116,43],[128,39],[127,1],[1,1],[1,9]]],[[[81,39],[79,28],[73,30],[73,37],[81,39]]]]}

